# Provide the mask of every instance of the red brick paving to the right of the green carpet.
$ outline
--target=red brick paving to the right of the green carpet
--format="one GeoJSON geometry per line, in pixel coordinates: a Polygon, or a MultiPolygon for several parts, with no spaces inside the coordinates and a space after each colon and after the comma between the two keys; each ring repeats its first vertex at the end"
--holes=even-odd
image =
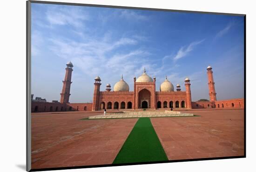
{"type": "Polygon", "coordinates": [[[244,155],[243,110],[191,112],[201,117],[151,118],[168,159],[244,155]]]}

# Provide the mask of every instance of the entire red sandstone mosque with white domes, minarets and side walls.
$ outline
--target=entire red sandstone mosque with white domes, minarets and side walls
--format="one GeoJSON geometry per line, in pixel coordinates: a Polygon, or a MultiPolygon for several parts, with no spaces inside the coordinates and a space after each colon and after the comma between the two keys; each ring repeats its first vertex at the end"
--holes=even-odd
{"type": "Polygon", "coordinates": [[[111,91],[107,84],[105,91],[100,91],[101,78],[94,79],[93,103],[69,103],[71,75],[73,64],[67,63],[66,74],[61,91],[60,102],[35,102],[32,101],[31,112],[59,112],[59,111],[100,111],[103,109],[194,109],[194,108],[243,108],[244,99],[216,100],[216,91],[213,80],[212,67],[207,67],[209,101],[191,101],[190,80],[186,78],[185,91],[177,84],[176,91],[173,84],[167,79],[162,82],[160,91],[156,91],[155,82],[144,72],[138,78],[134,77],[134,91],[129,91],[129,86],[121,76],[114,90],[111,91]]]}

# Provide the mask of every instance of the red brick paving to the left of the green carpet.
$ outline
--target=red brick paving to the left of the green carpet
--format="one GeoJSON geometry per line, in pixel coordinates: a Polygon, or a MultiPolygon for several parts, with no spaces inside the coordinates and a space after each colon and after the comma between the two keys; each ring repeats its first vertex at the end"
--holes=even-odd
{"type": "Polygon", "coordinates": [[[32,169],[112,164],[137,119],[79,120],[90,115],[32,114],[32,169]]]}

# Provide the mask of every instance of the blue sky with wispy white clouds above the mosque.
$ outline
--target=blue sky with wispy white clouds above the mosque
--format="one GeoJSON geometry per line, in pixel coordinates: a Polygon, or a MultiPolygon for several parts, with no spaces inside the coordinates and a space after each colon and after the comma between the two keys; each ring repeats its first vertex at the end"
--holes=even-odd
{"type": "Polygon", "coordinates": [[[60,100],[68,61],[74,65],[71,103],[92,102],[94,78],[101,91],[121,79],[133,91],[144,67],[185,91],[209,99],[212,66],[217,100],[244,97],[243,17],[32,3],[31,89],[34,97],[60,100]]]}

